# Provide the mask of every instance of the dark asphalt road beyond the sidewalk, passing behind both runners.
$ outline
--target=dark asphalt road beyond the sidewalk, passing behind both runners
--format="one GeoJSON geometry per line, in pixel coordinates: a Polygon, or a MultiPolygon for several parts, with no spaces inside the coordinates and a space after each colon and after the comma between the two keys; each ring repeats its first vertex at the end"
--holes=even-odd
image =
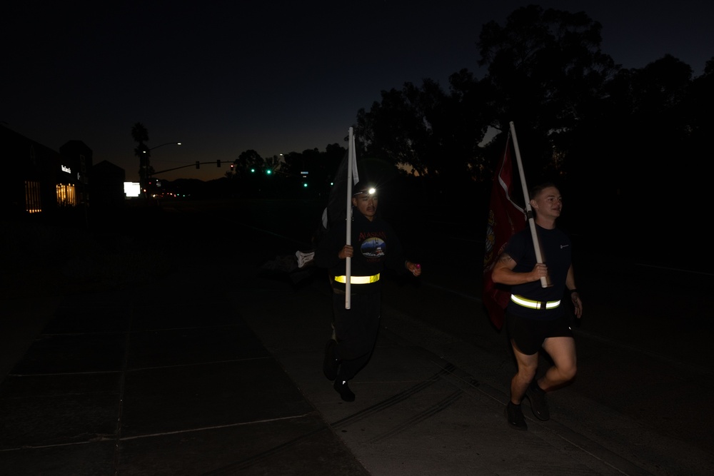
{"type": "MultiPolygon", "coordinates": [[[[256,264],[309,248],[321,211],[308,201],[163,206],[182,221],[203,223],[186,233],[215,243],[204,248],[214,258],[256,264]]],[[[466,216],[461,223],[428,215],[393,223],[423,275],[418,283],[388,280],[385,305],[420,323],[413,342],[507,394],[515,363],[506,336],[483,313],[481,233],[466,216]]],[[[714,379],[706,357],[714,275],[653,255],[615,256],[607,248],[592,237],[575,239],[585,309],[575,323],[578,376],[550,394],[551,411],[574,434],[654,475],[712,474],[714,379]]]]}

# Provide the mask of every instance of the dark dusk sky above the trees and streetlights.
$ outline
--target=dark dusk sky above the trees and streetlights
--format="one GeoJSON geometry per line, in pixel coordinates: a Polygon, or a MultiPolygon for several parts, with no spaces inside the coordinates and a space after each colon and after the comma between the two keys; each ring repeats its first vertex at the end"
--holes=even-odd
{"type": "MultiPolygon", "coordinates": [[[[138,180],[131,126],[156,171],[341,143],[380,91],[478,78],[481,26],[533,1],[24,1],[4,6],[0,122],[55,150],[84,141],[138,180]],[[68,6],[71,5],[71,6],[68,6]]],[[[714,1],[542,1],[603,24],[625,68],[714,56],[714,1]]],[[[162,177],[218,178],[226,166],[162,177]]]]}

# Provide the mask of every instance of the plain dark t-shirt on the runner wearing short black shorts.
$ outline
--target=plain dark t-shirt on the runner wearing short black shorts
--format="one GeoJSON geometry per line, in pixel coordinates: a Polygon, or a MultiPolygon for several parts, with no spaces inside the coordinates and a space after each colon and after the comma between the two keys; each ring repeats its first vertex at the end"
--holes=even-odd
{"type": "MultiPolygon", "coordinates": [[[[540,226],[535,226],[540,241],[540,248],[543,250],[543,260],[548,265],[548,275],[550,283],[553,285],[543,288],[540,280],[531,283],[524,283],[511,286],[511,293],[521,295],[526,299],[538,301],[555,301],[563,298],[565,290],[565,278],[568,276],[568,269],[571,263],[571,243],[570,237],[559,228],[547,230],[540,226]]],[[[516,261],[513,268],[517,273],[527,273],[535,266],[535,248],[533,247],[533,237],[531,227],[513,235],[504,250],[516,261]]],[[[508,312],[520,315],[528,319],[555,319],[565,313],[565,308],[561,303],[554,309],[531,309],[508,302],[508,312]]]]}

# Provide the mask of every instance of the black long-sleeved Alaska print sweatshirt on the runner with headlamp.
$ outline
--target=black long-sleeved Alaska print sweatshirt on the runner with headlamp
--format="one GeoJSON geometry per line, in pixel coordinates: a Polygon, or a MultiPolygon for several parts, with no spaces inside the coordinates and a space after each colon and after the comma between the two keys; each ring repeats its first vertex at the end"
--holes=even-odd
{"type": "MultiPolygon", "coordinates": [[[[331,276],[345,275],[346,260],[341,260],[338,253],[346,244],[347,226],[333,226],[327,235],[318,243],[315,250],[315,264],[328,268],[331,276]]],[[[373,276],[382,273],[384,268],[401,272],[404,270],[404,254],[402,245],[391,226],[378,216],[368,221],[358,211],[352,220],[352,247],[354,255],[351,258],[352,276],[373,276]]],[[[372,292],[381,288],[382,281],[371,284],[352,284],[352,292],[372,292]]],[[[345,289],[344,283],[333,281],[336,289],[345,289]]]]}

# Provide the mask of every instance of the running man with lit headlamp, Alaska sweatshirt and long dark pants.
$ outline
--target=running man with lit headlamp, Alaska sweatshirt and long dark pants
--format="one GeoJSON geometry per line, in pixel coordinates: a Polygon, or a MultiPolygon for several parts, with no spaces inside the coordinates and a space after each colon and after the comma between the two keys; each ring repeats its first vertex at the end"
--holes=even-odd
{"type": "Polygon", "coordinates": [[[421,265],[406,260],[391,226],[378,216],[376,188],[358,183],[353,189],[351,245],[346,223],[333,226],[315,250],[318,267],[327,268],[333,289],[333,338],[328,340],[323,373],[334,380],[342,400],[353,402],[348,382],[366,365],[377,340],[381,315],[383,270],[421,275],[421,265]],[[346,309],[346,258],[351,258],[350,308],[346,309]]]}

